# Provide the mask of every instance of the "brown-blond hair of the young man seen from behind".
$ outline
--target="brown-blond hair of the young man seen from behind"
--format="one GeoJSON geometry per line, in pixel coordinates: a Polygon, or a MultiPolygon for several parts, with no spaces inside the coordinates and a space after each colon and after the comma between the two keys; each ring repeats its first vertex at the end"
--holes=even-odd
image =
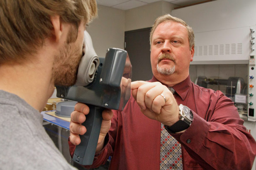
{"type": "Polygon", "coordinates": [[[0,64],[24,60],[52,36],[50,16],[78,28],[97,16],[95,0],[0,0],[0,64]]]}

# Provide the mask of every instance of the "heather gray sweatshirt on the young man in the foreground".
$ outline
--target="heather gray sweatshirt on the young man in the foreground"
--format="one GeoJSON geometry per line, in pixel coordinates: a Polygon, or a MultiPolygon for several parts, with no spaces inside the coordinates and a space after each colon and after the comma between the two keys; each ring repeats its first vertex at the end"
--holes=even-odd
{"type": "Polygon", "coordinates": [[[43,116],[0,90],[0,170],[73,170],[42,126],[43,116]]]}

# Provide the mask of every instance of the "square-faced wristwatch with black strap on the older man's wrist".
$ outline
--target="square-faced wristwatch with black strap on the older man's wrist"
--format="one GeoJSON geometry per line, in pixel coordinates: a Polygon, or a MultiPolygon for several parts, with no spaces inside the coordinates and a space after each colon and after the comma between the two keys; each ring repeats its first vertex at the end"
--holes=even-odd
{"type": "Polygon", "coordinates": [[[179,118],[180,120],[172,126],[165,125],[165,129],[169,133],[176,133],[188,129],[193,121],[193,113],[190,108],[185,105],[179,105],[179,118]]]}

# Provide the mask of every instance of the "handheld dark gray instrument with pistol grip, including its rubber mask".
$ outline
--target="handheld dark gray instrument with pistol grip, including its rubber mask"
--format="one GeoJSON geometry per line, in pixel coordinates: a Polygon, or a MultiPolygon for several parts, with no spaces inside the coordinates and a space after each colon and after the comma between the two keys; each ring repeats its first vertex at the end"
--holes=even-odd
{"type": "Polygon", "coordinates": [[[104,108],[122,111],[131,94],[132,65],[125,50],[109,48],[105,58],[98,58],[90,35],[85,31],[85,55],[81,58],[76,84],[56,86],[57,97],[85,103],[90,108],[82,124],[87,132],[80,135],[73,160],[92,165],[100,134],[104,108]]]}

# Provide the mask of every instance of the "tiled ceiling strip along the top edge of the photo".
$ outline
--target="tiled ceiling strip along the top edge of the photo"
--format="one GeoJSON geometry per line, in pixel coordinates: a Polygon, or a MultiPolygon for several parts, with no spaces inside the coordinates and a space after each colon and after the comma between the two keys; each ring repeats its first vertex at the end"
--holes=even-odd
{"type": "MultiPolygon", "coordinates": [[[[149,3],[161,1],[161,0],[96,0],[99,5],[104,5],[107,7],[113,7],[120,10],[129,10],[135,7],[140,7],[147,5],[149,3]]],[[[212,0],[164,0],[166,2],[171,2],[179,7],[195,5],[200,2],[210,2],[212,0]]]]}

